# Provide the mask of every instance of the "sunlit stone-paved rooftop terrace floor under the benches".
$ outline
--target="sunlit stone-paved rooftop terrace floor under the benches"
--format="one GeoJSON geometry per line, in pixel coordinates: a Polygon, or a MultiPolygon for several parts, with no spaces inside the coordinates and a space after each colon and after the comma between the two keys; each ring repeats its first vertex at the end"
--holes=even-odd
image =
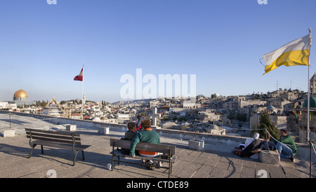
{"type": "MultiPolygon", "coordinates": [[[[1,113],[0,132],[7,130],[9,124],[8,114],[1,113]]],[[[11,128],[15,130],[15,137],[3,137],[0,134],[1,178],[43,178],[48,177],[49,170],[53,170],[58,178],[168,177],[168,170],[165,169],[147,170],[140,165],[124,163],[116,165],[113,171],[107,170],[107,163],[111,163],[112,158],[110,138],[124,137],[124,125],[112,126],[109,135],[99,135],[98,128],[86,124],[86,121],[77,123],[76,132],[81,134],[82,144],[89,144],[91,147],[85,151],[85,161],[80,159],[79,153],[75,166],[72,166],[72,151],[65,149],[44,146],[44,154],[41,154],[40,147],[36,147],[32,158],[28,158],[30,146],[29,139],[25,137],[25,128],[65,130],[65,124],[44,121],[34,116],[12,114],[11,128]]],[[[213,139],[212,142],[212,139],[206,139],[204,151],[193,151],[188,148],[189,137],[157,131],[162,143],[177,147],[177,159],[173,165],[171,178],[258,178],[265,175],[270,178],[309,177],[309,161],[300,156],[296,156],[295,163],[282,160],[280,165],[270,165],[230,153],[236,142],[218,142],[218,139],[213,139]],[[261,172],[266,174],[263,175],[261,172]]],[[[315,170],[316,165],[313,163],[312,177],[316,177],[315,170]]]]}

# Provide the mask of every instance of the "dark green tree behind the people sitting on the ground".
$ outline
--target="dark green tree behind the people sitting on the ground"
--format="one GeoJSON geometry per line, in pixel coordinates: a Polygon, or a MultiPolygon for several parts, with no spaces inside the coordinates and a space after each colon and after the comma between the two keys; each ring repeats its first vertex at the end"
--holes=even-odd
{"type": "Polygon", "coordinates": [[[279,139],[279,130],[277,130],[277,126],[275,126],[275,124],[271,122],[269,114],[268,113],[263,114],[261,112],[260,116],[261,116],[261,119],[258,125],[258,130],[253,130],[251,134],[256,131],[260,134],[262,138],[263,135],[265,135],[265,130],[268,130],[268,132],[270,133],[270,135],[272,135],[272,137],[274,137],[275,139],[279,139]]]}

